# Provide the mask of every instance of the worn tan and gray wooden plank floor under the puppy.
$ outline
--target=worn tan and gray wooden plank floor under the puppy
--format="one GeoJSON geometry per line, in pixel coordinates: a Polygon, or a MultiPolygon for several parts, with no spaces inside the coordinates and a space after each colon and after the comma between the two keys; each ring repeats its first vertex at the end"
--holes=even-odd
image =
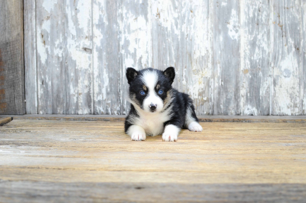
{"type": "Polygon", "coordinates": [[[135,142],[123,122],[0,126],[0,202],[305,202],[306,123],[200,123],[135,142]]]}

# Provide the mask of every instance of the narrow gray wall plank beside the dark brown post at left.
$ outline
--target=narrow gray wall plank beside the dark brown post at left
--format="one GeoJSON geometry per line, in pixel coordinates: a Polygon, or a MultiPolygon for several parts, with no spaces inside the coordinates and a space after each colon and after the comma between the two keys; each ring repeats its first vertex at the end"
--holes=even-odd
{"type": "Polygon", "coordinates": [[[37,114],[35,1],[23,1],[23,19],[26,113],[37,114]]]}

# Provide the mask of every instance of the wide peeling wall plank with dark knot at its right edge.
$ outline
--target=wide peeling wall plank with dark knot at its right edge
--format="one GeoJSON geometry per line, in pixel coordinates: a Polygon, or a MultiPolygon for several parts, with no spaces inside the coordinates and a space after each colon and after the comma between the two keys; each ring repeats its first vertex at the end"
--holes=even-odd
{"type": "Polygon", "coordinates": [[[91,114],[91,1],[36,2],[38,113],[91,114]]]}

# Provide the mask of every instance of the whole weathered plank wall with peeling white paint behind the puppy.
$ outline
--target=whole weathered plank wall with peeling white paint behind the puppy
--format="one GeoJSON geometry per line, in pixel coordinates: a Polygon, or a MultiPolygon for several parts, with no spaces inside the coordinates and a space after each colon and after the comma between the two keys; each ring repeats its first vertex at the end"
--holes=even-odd
{"type": "Polygon", "coordinates": [[[27,114],[127,114],[168,66],[198,114],[306,114],[305,0],[24,2],[27,114]]]}

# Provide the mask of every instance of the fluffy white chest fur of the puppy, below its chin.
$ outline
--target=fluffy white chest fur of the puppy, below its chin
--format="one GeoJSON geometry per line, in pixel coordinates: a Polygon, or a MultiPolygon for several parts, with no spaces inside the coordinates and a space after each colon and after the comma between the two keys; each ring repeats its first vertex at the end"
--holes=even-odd
{"type": "Polygon", "coordinates": [[[147,135],[155,136],[162,134],[164,131],[164,122],[169,120],[170,109],[162,113],[146,113],[138,112],[139,118],[136,120],[136,125],[145,129],[147,135]]]}

